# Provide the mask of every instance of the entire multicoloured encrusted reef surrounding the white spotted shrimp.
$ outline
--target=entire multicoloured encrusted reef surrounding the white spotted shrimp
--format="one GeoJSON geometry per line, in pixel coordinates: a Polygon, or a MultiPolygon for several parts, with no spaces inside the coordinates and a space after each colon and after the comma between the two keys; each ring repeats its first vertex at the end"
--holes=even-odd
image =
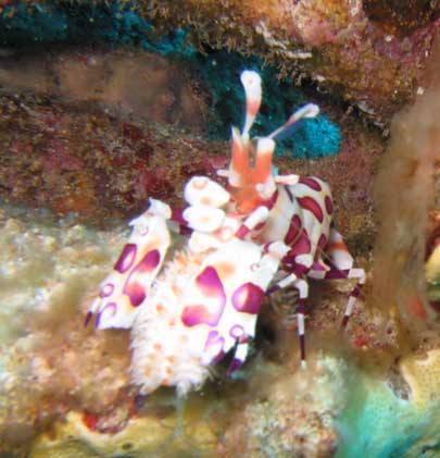
{"type": "Polygon", "coordinates": [[[0,456],[438,457],[437,3],[4,3],[0,456]],[[305,369],[287,288],[232,375],[227,356],[185,397],[144,395],[129,331],[84,322],[149,198],[183,208],[192,176],[226,185],[244,69],[263,81],[252,137],[319,106],[273,171],[330,184],[366,284],[342,332],[353,281],[310,281],[305,369]]]}

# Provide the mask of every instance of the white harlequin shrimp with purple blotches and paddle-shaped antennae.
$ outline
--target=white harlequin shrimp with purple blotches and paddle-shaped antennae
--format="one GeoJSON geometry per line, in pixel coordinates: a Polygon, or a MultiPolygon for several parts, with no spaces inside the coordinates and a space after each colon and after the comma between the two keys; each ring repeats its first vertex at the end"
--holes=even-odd
{"type": "Polygon", "coordinates": [[[261,78],[244,71],[241,83],[246,120],[241,133],[232,128],[229,169],[218,173],[226,187],[192,177],[184,188],[188,206],[183,210],[150,199],[148,210],[130,222],[130,237],[86,318],[87,325],[95,317],[99,330],[131,329],[130,370],[144,394],[161,385],[176,386],[179,394],[200,387],[230,350],[227,373],[239,369],[264,296],[286,287],[299,290],[305,366],[307,278],[357,280],[342,326],[365,282],[332,225],[329,186],[272,171],[276,137],[316,116],[318,108],[306,104],[271,135],[250,139],[261,78]]]}

